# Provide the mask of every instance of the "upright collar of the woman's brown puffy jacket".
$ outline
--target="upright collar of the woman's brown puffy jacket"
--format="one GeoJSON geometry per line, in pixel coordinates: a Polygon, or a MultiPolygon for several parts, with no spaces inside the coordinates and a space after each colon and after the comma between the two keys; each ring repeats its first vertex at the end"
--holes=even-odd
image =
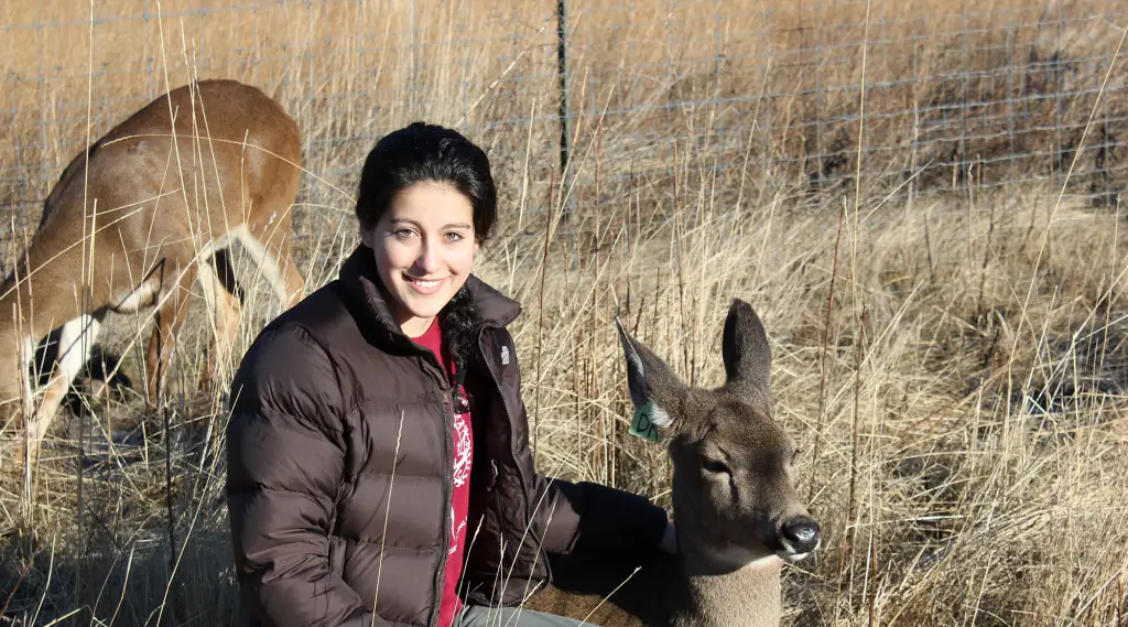
{"type": "MultiPolygon", "coordinates": [[[[365,326],[376,336],[393,345],[412,345],[396,323],[380,275],[376,271],[376,256],[371,248],[361,244],[352,251],[341,266],[338,281],[359,309],[365,326]]],[[[502,294],[484,281],[470,274],[466,280],[474,308],[486,325],[508,326],[521,314],[521,306],[515,300],[502,294]]]]}

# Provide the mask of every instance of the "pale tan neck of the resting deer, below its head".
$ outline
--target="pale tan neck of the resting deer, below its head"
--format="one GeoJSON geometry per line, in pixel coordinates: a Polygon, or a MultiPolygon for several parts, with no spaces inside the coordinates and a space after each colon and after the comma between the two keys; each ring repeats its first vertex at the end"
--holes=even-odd
{"type": "Polygon", "coordinates": [[[676,603],[670,625],[778,627],[782,571],[783,560],[775,555],[731,566],[684,547],[680,583],[685,595],[676,603]]]}

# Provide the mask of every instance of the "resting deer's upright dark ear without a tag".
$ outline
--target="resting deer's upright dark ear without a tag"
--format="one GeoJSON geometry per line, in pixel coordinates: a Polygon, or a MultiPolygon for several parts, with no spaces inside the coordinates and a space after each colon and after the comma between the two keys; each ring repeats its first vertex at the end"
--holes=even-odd
{"type": "Polygon", "coordinates": [[[772,347],[752,306],[733,299],[721,342],[725,389],[750,399],[767,400],[772,377],[772,347]]]}

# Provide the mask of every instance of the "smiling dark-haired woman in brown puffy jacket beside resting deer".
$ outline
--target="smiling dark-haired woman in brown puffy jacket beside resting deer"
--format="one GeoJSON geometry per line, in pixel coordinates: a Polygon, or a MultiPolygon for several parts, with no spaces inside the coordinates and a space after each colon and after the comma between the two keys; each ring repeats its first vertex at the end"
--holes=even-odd
{"type": "Polygon", "coordinates": [[[244,357],[227,491],[250,624],[573,626],[508,607],[550,579],[543,551],[672,550],[646,498],[536,473],[505,329],[520,306],[473,275],[496,198],[457,132],[385,136],[361,245],[244,357]]]}

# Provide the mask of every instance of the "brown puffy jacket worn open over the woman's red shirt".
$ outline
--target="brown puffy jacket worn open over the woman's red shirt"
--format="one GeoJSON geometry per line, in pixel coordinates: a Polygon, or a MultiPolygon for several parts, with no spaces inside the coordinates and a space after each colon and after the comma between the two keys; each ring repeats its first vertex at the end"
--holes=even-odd
{"type": "MultiPolygon", "coordinates": [[[[378,281],[361,245],[336,281],[262,332],[232,382],[228,511],[252,624],[438,621],[450,533],[450,390],[430,352],[394,323],[378,281]]],[[[520,306],[474,276],[467,285],[483,325],[467,369],[475,458],[464,598],[519,602],[550,577],[541,550],[655,550],[662,509],[535,471],[505,330],[520,306]]]]}

